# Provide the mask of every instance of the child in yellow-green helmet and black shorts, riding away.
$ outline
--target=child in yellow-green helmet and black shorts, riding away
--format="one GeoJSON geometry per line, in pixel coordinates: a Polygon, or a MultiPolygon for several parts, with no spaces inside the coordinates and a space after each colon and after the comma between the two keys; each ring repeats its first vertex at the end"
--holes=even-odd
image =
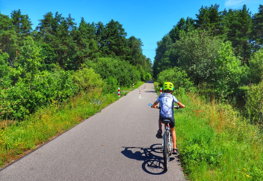
{"type": "Polygon", "coordinates": [[[173,154],[178,153],[178,149],[176,148],[176,134],[175,134],[175,121],[174,121],[174,102],[177,103],[181,108],[185,108],[181,102],[172,95],[174,90],[174,85],[171,82],[165,82],[163,84],[164,93],[160,94],[157,98],[156,102],[152,105],[153,108],[156,108],[158,103],[160,103],[160,115],[159,115],[159,130],[157,131],[156,137],[161,138],[162,135],[162,120],[170,120],[170,131],[173,138],[173,154]]]}

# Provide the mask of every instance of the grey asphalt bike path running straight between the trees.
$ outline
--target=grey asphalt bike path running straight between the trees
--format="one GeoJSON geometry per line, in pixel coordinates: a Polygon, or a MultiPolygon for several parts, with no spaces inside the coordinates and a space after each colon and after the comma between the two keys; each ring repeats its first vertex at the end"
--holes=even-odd
{"type": "Polygon", "coordinates": [[[148,81],[7,166],[0,180],[185,180],[176,155],[164,171],[159,109],[148,106],[156,99],[148,81]]]}

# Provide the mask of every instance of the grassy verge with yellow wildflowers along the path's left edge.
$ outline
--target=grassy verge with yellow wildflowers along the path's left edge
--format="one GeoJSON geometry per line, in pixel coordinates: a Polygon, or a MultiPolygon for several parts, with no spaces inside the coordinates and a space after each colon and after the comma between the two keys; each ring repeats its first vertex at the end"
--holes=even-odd
{"type": "MultiPolygon", "coordinates": [[[[143,83],[136,83],[135,89],[143,83]]],[[[121,96],[124,96],[132,90],[132,86],[120,89],[121,96]]],[[[19,154],[34,150],[37,145],[63,133],[118,99],[118,94],[102,95],[101,90],[80,93],[59,109],[53,101],[50,106],[31,114],[26,120],[0,129],[0,168],[19,154]]]]}

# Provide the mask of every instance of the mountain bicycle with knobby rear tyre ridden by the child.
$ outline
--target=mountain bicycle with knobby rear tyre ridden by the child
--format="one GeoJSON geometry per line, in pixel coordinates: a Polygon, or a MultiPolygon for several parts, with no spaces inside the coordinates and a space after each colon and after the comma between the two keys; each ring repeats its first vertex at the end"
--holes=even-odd
{"type": "MultiPolygon", "coordinates": [[[[148,106],[152,106],[151,103],[148,104],[148,106]]],[[[160,109],[160,106],[156,106],[156,108],[160,109]]],[[[175,109],[181,108],[181,106],[174,106],[175,109]]],[[[161,146],[161,151],[163,152],[163,157],[164,157],[164,170],[168,170],[168,164],[169,164],[169,159],[170,156],[172,155],[173,149],[171,145],[171,131],[170,131],[170,126],[169,123],[171,123],[170,120],[163,120],[162,123],[164,124],[164,131],[163,131],[163,143],[161,146]]]]}

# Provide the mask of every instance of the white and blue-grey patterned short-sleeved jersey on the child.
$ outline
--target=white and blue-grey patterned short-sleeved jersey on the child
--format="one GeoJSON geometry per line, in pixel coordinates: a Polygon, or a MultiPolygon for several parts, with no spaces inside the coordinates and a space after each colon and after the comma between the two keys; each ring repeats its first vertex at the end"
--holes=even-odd
{"type": "Polygon", "coordinates": [[[157,101],[160,102],[160,116],[163,118],[170,118],[174,116],[174,102],[177,103],[178,100],[169,93],[161,94],[157,101]]]}

